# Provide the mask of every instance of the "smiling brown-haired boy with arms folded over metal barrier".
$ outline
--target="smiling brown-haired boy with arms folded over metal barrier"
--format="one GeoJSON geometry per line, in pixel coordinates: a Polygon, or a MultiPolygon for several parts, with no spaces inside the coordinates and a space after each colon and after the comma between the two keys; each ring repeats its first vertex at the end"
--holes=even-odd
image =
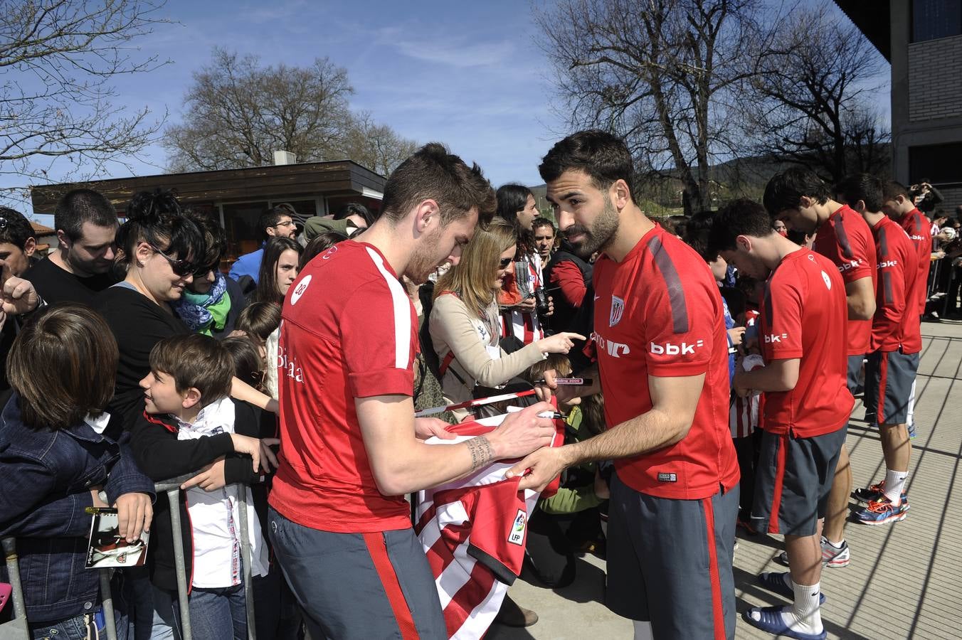
{"type": "MultiPolygon", "coordinates": [[[[140,381],[145,409],[131,445],[140,469],[151,480],[193,474],[181,485],[186,571],[190,576],[190,622],[194,637],[245,637],[246,613],[241,566],[238,501],[247,502],[251,575],[267,573],[267,550],[257,514],[242,484],[261,484],[263,457],[273,455],[258,439],[259,417],[252,406],[228,397],[234,363],[214,338],[190,333],[157,343],[151,372],[140,381]],[[240,454],[240,455],[239,455],[240,454]]],[[[179,627],[173,535],[165,500],[158,501],[150,545],[154,584],[153,638],[176,637],[179,627]]]]}

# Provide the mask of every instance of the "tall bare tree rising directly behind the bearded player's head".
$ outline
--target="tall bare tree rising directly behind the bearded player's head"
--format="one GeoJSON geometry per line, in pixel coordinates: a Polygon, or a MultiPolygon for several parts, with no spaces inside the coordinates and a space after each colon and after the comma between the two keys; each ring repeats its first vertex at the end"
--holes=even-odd
{"type": "Polygon", "coordinates": [[[711,207],[709,166],[743,141],[740,85],[765,45],[757,0],[561,0],[536,11],[572,128],[628,142],[643,178],[711,207]]]}

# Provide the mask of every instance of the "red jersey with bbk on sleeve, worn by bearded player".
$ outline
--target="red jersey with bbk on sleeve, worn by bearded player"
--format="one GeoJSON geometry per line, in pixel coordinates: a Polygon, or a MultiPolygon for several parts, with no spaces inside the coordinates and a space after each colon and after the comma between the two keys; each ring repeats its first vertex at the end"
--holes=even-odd
{"type": "Polygon", "coordinates": [[[636,491],[700,500],[738,482],[728,430],[728,340],[708,264],[659,226],[620,262],[595,262],[595,347],[608,428],[651,409],[648,376],[705,375],[695,420],[679,442],[616,460],[636,491]]]}

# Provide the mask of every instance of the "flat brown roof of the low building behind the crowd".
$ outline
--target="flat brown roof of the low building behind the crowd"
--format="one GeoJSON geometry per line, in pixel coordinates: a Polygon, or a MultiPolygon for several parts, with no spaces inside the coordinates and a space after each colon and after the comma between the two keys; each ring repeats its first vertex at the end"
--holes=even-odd
{"type": "Polygon", "coordinates": [[[97,180],[89,183],[63,183],[30,187],[34,211],[49,213],[67,191],[95,189],[107,196],[122,212],[138,191],[156,188],[175,189],[182,204],[224,201],[294,198],[298,195],[360,194],[380,197],[386,179],[353,160],[301,162],[223,169],[165,173],[155,176],[97,180]]]}

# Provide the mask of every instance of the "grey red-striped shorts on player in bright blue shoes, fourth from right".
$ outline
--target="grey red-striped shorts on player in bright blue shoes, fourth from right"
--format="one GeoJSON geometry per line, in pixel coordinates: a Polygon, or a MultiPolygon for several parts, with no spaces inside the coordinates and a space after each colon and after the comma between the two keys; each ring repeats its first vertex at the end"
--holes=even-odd
{"type": "Polygon", "coordinates": [[[814,535],[825,515],[835,465],[848,425],[838,431],[797,438],[762,433],[755,470],[751,520],[755,529],[785,535],[814,535]]]}

